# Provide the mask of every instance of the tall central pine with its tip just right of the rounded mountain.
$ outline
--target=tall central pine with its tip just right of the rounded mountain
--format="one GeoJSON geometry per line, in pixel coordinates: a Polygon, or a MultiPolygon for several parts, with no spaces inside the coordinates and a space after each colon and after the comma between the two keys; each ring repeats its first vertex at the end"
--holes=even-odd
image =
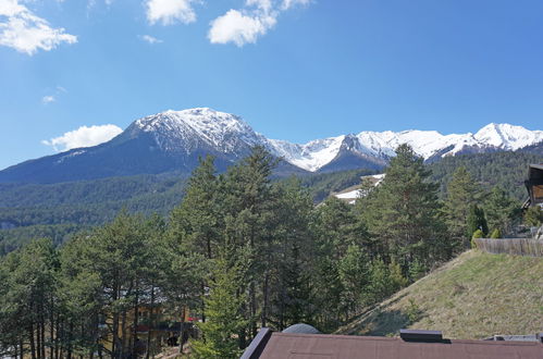
{"type": "MultiPolygon", "coordinates": [[[[276,160],[263,147],[230,168],[222,181],[225,242],[248,250],[246,318],[249,338],[257,334],[257,320],[267,325],[270,311],[270,275],[273,269],[273,233],[276,223],[276,191],[271,184],[276,160]],[[262,300],[258,300],[261,292],[262,300]]],[[[242,338],[243,341],[243,338],[242,338]]]]}

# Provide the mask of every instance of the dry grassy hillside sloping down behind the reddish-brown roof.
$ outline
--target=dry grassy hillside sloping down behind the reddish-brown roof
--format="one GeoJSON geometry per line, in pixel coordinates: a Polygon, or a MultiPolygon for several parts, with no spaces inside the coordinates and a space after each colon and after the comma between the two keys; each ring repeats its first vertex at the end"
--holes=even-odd
{"type": "Polygon", "coordinates": [[[481,339],[543,331],[543,258],[467,251],[362,313],[338,334],[396,335],[443,331],[481,339]]]}

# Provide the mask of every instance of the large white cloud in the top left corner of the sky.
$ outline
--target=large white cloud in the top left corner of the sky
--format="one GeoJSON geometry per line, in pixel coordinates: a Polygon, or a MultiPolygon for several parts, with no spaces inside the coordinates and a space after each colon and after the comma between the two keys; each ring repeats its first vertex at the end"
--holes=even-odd
{"type": "Polygon", "coordinates": [[[29,55],[39,49],[50,51],[62,42],[75,44],[77,37],[52,28],[20,0],[0,0],[0,45],[29,55]]]}

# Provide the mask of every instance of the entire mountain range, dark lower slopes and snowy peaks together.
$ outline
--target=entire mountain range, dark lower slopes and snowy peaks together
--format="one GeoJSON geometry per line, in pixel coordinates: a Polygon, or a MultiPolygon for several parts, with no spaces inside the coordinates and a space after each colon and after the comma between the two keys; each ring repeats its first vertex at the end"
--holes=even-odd
{"type": "Polygon", "coordinates": [[[282,158],[282,173],[381,169],[400,144],[409,144],[427,160],[466,152],[539,148],[542,131],[489,124],[477,132],[442,135],[435,131],[361,132],[307,144],[268,139],[239,116],[197,108],[165,111],[133,122],[104,144],[26,161],[0,171],[0,182],[52,183],[109,176],[188,173],[198,158],[212,154],[224,170],[255,145],[282,158]]]}

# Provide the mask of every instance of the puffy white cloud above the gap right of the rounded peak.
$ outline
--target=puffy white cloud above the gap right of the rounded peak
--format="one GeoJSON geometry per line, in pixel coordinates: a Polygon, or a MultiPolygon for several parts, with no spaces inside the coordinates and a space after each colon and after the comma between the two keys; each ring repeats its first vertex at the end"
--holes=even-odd
{"type": "Polygon", "coordinates": [[[211,22],[208,38],[211,44],[234,42],[238,47],[255,44],[258,36],[264,35],[275,25],[274,16],[244,15],[237,10],[230,10],[211,22]]]}

